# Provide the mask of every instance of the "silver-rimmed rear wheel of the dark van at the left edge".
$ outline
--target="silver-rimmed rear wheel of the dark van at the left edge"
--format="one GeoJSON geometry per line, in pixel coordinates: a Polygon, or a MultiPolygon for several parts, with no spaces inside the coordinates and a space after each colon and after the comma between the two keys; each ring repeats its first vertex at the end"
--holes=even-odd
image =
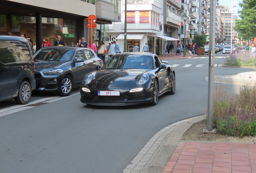
{"type": "Polygon", "coordinates": [[[18,96],[14,98],[15,102],[20,105],[25,105],[29,103],[29,100],[31,98],[31,92],[32,92],[32,89],[29,82],[27,81],[21,82],[18,96]]]}

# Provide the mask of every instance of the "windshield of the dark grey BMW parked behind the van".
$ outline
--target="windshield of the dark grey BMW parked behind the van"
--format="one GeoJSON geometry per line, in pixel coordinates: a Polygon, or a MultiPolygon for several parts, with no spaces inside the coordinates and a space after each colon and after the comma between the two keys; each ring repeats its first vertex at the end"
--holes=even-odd
{"type": "Polygon", "coordinates": [[[43,48],[38,50],[34,55],[35,60],[53,60],[68,62],[72,59],[74,50],[60,48],[43,48]]]}

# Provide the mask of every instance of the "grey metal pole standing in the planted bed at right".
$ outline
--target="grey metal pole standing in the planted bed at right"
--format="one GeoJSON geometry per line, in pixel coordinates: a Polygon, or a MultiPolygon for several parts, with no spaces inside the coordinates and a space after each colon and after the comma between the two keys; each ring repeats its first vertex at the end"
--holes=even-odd
{"type": "Polygon", "coordinates": [[[213,133],[213,109],[214,109],[213,103],[214,103],[214,91],[215,91],[214,90],[215,26],[216,26],[216,0],[211,0],[207,131],[212,133],[213,133]]]}

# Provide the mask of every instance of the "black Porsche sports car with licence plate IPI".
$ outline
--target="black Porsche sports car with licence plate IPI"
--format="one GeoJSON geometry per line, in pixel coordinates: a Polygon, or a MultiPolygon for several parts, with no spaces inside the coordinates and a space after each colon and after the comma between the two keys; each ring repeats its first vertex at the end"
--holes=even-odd
{"type": "Polygon", "coordinates": [[[129,52],[112,56],[102,70],[88,73],[81,102],[87,105],[156,105],[163,93],[175,93],[175,71],[153,53],[129,52]]]}

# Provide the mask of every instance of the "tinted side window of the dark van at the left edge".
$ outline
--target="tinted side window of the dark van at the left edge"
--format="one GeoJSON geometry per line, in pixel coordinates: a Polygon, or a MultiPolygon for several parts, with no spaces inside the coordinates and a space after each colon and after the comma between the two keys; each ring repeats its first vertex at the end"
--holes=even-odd
{"type": "Polygon", "coordinates": [[[4,64],[31,60],[27,45],[21,41],[0,41],[0,61],[4,64]]]}

